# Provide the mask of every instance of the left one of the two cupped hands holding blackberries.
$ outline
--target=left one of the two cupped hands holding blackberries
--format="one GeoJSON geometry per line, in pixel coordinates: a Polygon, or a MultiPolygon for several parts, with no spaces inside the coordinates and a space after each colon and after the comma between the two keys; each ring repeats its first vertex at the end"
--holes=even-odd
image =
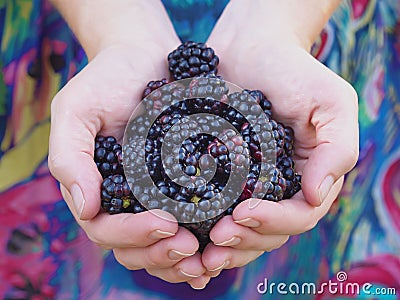
{"type": "Polygon", "coordinates": [[[151,212],[100,212],[102,178],[93,160],[94,139],[102,134],[121,140],[145,84],[168,75],[165,57],[179,40],[173,32],[158,32],[163,32],[162,36],[148,32],[149,41],[141,41],[140,47],[119,44],[103,48],[55,96],[49,168],[90,240],[112,249],[128,269],[144,268],[165,281],[201,288],[210,278],[203,275],[205,268],[196,253],[199,245],[188,230],[151,212]]]}

